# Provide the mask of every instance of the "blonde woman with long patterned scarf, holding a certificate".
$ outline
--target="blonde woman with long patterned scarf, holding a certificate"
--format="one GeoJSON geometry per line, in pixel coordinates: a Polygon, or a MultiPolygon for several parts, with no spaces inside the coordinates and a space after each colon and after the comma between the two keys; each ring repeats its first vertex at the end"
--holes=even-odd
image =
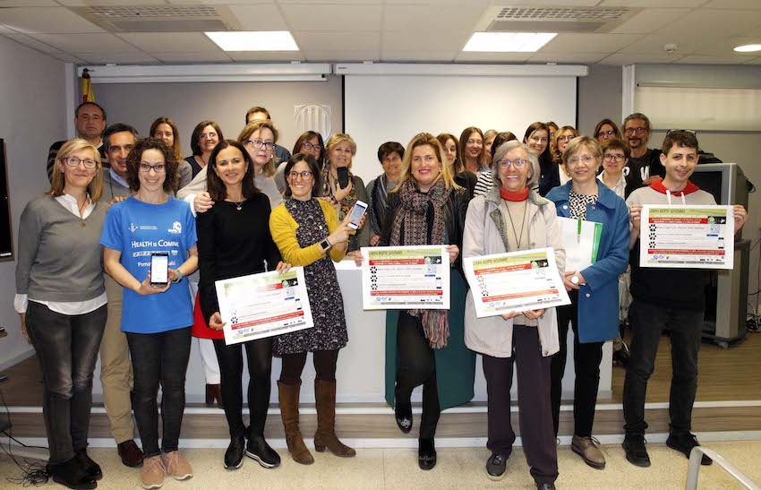
{"type": "MultiPolygon", "coordinates": [[[[389,193],[379,245],[448,244],[449,262],[459,267],[469,196],[455,184],[446,161],[432,134],[420,133],[409,143],[399,185],[389,193]]],[[[452,271],[451,288],[449,311],[389,310],[386,315],[386,400],[404,433],[412,430],[412,391],[423,385],[421,469],[436,465],[433,437],[441,409],[473,399],[475,355],[463,342],[466,284],[458,270],[452,271]]]]}

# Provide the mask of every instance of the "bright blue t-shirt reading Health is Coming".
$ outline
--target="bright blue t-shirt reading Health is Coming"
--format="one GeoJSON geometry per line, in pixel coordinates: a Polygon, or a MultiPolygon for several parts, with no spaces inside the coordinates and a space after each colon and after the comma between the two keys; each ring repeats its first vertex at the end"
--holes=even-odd
{"type": "MultiPolygon", "coordinates": [[[[163,204],[149,204],[129,197],[108,210],[100,245],[122,253],[121,263],[135,279],[150,271],[150,255],[166,252],[169,267],[177,269],[197,241],[190,205],[174,197],[163,204]]],[[[140,296],[124,288],[122,331],[158,333],[192,325],[192,302],[184,280],[164,293],[140,296]]]]}

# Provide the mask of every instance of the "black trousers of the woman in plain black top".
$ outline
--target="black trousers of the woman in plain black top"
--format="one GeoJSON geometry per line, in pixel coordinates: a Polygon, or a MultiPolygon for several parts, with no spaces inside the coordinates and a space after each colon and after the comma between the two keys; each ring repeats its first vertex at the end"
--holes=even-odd
{"type": "Polygon", "coordinates": [[[248,408],[251,413],[251,435],[264,435],[269,408],[269,391],[272,373],[272,339],[258,339],[243,344],[226,345],[225,340],[214,340],[219,374],[221,375],[222,400],[225,406],[230,437],[245,432],[243,408],[243,372],[245,349],[248,364],[248,408]]]}

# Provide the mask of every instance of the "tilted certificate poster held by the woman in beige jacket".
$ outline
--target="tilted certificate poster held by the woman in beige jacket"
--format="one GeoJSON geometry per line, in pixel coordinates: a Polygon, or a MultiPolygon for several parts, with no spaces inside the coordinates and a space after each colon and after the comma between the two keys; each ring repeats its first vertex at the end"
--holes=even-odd
{"type": "Polygon", "coordinates": [[[570,305],[552,248],[463,259],[478,318],[570,305]]]}

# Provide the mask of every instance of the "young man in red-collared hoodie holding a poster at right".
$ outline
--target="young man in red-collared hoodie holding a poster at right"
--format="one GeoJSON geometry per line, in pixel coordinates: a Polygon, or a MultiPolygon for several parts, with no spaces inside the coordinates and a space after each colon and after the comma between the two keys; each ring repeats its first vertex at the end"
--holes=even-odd
{"type": "MultiPolygon", "coordinates": [[[[697,138],[688,131],[671,131],[663,140],[663,180],[637,189],[627,199],[631,218],[631,359],[624,383],[626,438],[623,448],[634,465],[650,466],[645,448],[645,394],[653,374],[655,353],[663,330],[671,331],[671,398],[669,438],[666,444],[689,458],[699,445],[692,428],[692,406],[697,392],[697,351],[700,348],[706,272],[701,269],[641,268],[639,235],[642,206],[715,205],[714,196],[689,182],[697,165],[697,138]]],[[[734,206],[734,231],[742,228],[748,213],[734,206]]],[[[704,465],[711,460],[703,457],[704,465]]]]}

